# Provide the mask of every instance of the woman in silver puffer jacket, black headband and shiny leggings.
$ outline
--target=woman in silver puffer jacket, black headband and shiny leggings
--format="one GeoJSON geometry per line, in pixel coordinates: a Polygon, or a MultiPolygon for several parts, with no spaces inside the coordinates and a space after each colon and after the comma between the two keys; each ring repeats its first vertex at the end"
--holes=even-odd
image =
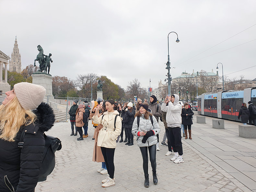
{"type": "Polygon", "coordinates": [[[132,133],[137,136],[137,143],[143,158],[143,171],[145,175],[144,186],[149,187],[148,178],[148,154],[153,172],[153,183],[157,185],[157,134],[160,132],[157,119],[148,111],[148,104],[142,103],[139,111],[135,113],[132,133]]]}

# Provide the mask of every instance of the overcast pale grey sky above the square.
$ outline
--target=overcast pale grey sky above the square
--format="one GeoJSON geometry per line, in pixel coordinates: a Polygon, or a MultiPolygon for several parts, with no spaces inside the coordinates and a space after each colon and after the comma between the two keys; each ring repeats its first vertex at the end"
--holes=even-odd
{"type": "MultiPolygon", "coordinates": [[[[171,31],[180,40],[169,35],[172,78],[193,69],[216,73],[218,62],[224,75],[256,65],[255,10],[254,0],[0,0],[0,50],[11,55],[17,35],[22,68],[33,64],[40,44],[44,54],[52,53],[52,76],[75,80],[93,72],[124,89],[134,78],[147,88],[151,78],[154,88],[166,78],[171,31]]],[[[253,67],[228,77],[254,79],[255,72],[253,67]]]]}

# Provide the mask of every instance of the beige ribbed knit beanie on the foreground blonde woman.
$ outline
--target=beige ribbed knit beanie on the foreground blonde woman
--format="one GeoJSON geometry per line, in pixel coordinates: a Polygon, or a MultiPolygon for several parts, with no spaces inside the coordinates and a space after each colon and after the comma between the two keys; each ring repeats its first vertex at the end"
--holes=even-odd
{"type": "Polygon", "coordinates": [[[43,101],[46,89],[41,85],[21,82],[14,85],[17,99],[23,109],[36,109],[43,101]]]}

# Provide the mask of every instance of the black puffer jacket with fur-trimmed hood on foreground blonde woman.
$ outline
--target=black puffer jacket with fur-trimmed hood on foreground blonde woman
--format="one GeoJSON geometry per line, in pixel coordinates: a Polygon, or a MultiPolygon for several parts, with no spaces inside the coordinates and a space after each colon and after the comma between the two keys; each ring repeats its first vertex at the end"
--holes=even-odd
{"type": "Polygon", "coordinates": [[[15,141],[0,139],[0,191],[10,192],[5,184],[7,175],[15,192],[34,192],[38,182],[45,140],[44,131],[52,128],[55,121],[52,108],[45,103],[34,110],[37,120],[34,124],[22,126],[15,141]],[[25,129],[24,144],[18,147],[22,130],[25,129]]]}

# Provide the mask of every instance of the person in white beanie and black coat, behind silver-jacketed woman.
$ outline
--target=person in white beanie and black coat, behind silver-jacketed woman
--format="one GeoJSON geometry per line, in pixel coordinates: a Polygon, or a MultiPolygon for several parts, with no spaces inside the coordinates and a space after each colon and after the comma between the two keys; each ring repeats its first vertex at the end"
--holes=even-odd
{"type": "Polygon", "coordinates": [[[134,122],[134,115],[135,115],[135,108],[133,107],[133,103],[129,102],[127,104],[127,108],[125,108],[125,114],[123,117],[123,120],[125,119],[125,121],[123,122],[123,125],[127,133],[127,143],[125,143],[125,145],[129,145],[129,146],[133,145],[132,126],[134,122]]]}

